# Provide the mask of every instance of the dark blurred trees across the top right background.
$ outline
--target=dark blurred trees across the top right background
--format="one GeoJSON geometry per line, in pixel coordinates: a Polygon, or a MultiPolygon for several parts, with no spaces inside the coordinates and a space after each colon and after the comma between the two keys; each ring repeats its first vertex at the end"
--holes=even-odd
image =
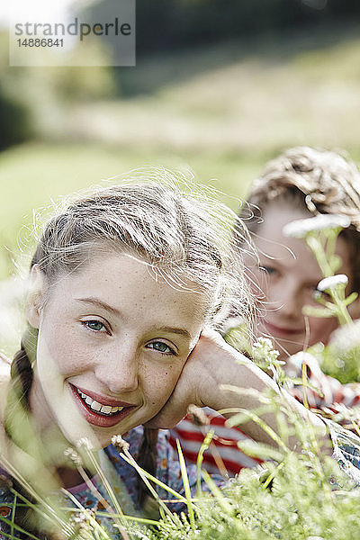
{"type": "MultiPolygon", "coordinates": [[[[94,20],[105,5],[92,4],[94,20]]],[[[191,49],[220,40],[360,16],[358,0],[136,0],[137,51],[191,49]]]]}

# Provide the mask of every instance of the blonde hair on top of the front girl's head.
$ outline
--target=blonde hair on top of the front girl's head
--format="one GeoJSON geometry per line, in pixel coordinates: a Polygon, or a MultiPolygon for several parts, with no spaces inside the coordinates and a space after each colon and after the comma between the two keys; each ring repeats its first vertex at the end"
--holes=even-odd
{"type": "Polygon", "coordinates": [[[174,184],[112,185],[70,203],[49,221],[31,266],[51,283],[76,272],[94,253],[126,251],[151,266],[179,290],[189,282],[207,296],[207,324],[215,329],[236,309],[251,320],[253,302],[236,242],[251,249],[247,229],[235,214],[201,193],[183,193],[174,184]]]}

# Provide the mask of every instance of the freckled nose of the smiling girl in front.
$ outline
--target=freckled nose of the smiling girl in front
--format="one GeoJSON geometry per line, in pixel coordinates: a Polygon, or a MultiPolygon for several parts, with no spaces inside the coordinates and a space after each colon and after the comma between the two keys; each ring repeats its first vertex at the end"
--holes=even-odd
{"type": "Polygon", "coordinates": [[[134,392],[139,386],[139,358],[127,347],[114,347],[102,355],[96,378],[114,395],[134,392]]]}

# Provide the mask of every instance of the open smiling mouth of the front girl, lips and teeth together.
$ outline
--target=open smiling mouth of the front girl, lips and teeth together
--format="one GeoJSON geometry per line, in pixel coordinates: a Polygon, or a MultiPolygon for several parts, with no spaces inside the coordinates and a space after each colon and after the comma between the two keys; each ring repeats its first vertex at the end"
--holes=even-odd
{"type": "MultiPolygon", "coordinates": [[[[102,400],[107,401],[105,403],[100,401],[100,398],[94,400],[94,398],[87,393],[83,392],[73,384],[69,384],[73,397],[76,401],[76,405],[82,415],[85,417],[89,424],[99,426],[101,428],[111,428],[118,424],[121,419],[124,419],[131,410],[136,408],[136,405],[130,403],[112,404],[109,401],[114,400],[102,400]]],[[[91,392],[93,393],[93,392],[91,392]]],[[[118,401],[119,403],[119,401],[118,401]]]]}

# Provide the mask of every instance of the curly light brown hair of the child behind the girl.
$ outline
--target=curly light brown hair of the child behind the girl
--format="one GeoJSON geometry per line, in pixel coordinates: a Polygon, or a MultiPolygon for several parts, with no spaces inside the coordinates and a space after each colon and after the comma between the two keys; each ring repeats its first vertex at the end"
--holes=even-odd
{"type": "Polygon", "coordinates": [[[356,164],[328,150],[289,148],[266,164],[240,210],[250,233],[256,233],[263,221],[266,204],[277,201],[311,215],[332,213],[350,218],[350,227],[340,234],[350,250],[352,288],[360,293],[360,173],[356,164]]]}

